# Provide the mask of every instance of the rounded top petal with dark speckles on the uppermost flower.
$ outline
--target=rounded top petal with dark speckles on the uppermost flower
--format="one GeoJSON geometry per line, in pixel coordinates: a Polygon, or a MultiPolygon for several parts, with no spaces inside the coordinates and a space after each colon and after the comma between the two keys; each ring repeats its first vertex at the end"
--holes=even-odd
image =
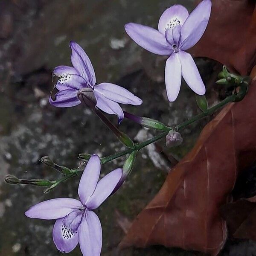
{"type": "Polygon", "coordinates": [[[179,4],[175,4],[166,9],[158,22],[158,30],[163,35],[166,29],[172,29],[177,25],[182,26],[186,18],[189,16],[188,10],[179,4]]]}

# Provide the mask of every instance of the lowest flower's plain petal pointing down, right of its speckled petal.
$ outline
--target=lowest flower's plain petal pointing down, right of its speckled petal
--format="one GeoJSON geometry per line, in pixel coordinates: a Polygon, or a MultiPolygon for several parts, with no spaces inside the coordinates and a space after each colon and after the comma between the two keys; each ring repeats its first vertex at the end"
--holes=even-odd
{"type": "Polygon", "coordinates": [[[83,256],[99,256],[102,248],[102,227],[96,213],[86,211],[78,233],[83,256]]]}

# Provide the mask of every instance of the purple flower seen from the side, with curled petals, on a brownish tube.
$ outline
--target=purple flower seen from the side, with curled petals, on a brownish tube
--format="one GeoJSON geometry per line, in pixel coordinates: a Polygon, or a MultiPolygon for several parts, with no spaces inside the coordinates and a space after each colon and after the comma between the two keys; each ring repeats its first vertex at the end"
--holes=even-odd
{"type": "Polygon", "coordinates": [[[76,42],[70,41],[72,49],[71,63],[73,67],[59,66],[53,71],[60,79],[56,84],[59,90],[55,100],[49,102],[55,107],[66,108],[79,105],[77,93],[81,88],[91,88],[96,98],[96,106],[108,114],[116,114],[119,120],[124,118],[122,108],[118,103],[141,105],[142,100],[116,84],[101,83],[96,85],[96,76],[89,57],[76,42]]]}

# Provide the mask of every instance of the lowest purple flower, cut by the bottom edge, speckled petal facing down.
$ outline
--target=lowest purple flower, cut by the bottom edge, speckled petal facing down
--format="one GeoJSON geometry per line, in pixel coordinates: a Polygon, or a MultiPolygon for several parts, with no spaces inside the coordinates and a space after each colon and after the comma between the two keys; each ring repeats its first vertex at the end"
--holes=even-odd
{"type": "Polygon", "coordinates": [[[99,157],[90,157],[79,183],[80,201],[55,198],[36,204],[25,212],[29,218],[57,219],[52,236],[56,247],[63,253],[69,253],[79,243],[84,256],[100,255],[102,228],[93,209],[108,198],[122,176],[119,168],[99,180],[100,167],[99,157]]]}

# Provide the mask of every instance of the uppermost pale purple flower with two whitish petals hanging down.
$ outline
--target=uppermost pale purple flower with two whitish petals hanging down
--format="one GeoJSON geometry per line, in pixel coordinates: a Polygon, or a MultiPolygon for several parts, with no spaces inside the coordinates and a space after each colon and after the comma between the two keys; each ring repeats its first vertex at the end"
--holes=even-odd
{"type": "Polygon", "coordinates": [[[158,55],[169,55],[165,81],[170,102],[177,99],[181,76],[197,94],[205,93],[205,86],[192,56],[185,50],[193,47],[207,27],[212,3],[203,0],[189,15],[181,5],[166,9],[160,17],[158,31],[135,23],[125,25],[127,34],[141,47],[158,55]]]}

